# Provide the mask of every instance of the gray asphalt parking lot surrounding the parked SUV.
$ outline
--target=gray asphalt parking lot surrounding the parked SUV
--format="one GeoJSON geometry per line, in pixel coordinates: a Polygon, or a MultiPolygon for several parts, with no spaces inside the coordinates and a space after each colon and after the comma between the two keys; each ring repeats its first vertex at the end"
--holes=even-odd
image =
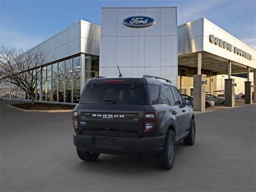
{"type": "Polygon", "coordinates": [[[196,114],[196,143],[172,170],[153,158],[82,162],[71,112],[21,112],[0,101],[0,191],[255,191],[256,105],[196,114]]]}

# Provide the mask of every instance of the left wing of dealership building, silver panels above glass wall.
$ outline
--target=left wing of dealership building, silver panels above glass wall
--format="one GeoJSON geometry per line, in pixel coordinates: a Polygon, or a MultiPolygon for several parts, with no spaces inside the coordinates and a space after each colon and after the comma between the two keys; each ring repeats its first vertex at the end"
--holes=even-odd
{"type": "MultiPolygon", "coordinates": [[[[36,102],[78,103],[86,81],[99,75],[100,26],[79,20],[37,46],[50,52],[50,62],[40,66],[36,102]]],[[[0,97],[31,100],[31,95],[4,79],[0,97]]]]}

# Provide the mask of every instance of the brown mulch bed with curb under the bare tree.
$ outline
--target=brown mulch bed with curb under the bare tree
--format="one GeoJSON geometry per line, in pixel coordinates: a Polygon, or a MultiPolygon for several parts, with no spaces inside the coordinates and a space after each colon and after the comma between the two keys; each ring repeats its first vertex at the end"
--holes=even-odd
{"type": "Polygon", "coordinates": [[[21,103],[11,106],[18,107],[24,110],[71,110],[75,108],[75,105],[52,103],[35,103],[34,105],[32,105],[31,103],[21,103]]]}

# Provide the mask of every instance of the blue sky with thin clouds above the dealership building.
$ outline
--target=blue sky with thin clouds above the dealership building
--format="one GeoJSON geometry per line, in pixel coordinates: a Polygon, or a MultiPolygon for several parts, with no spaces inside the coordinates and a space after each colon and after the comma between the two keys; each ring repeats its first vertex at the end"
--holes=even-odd
{"type": "Polygon", "coordinates": [[[102,6],[177,6],[178,25],[206,17],[256,48],[256,0],[0,0],[0,44],[28,49],[102,6]]]}

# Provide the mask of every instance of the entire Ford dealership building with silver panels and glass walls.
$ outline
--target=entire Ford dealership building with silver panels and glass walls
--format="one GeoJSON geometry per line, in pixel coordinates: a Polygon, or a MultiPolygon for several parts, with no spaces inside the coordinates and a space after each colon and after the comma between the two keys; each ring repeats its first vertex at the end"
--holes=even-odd
{"type": "MultiPolygon", "coordinates": [[[[234,106],[241,92],[251,103],[256,91],[256,50],[206,18],[178,26],[176,7],[102,8],[101,26],[79,20],[37,46],[52,55],[40,67],[38,102],[78,103],[88,79],[118,76],[117,66],[124,76],[170,79],[199,111],[205,93],[225,94],[234,106]]],[[[31,99],[4,79],[0,96],[31,99]]]]}

